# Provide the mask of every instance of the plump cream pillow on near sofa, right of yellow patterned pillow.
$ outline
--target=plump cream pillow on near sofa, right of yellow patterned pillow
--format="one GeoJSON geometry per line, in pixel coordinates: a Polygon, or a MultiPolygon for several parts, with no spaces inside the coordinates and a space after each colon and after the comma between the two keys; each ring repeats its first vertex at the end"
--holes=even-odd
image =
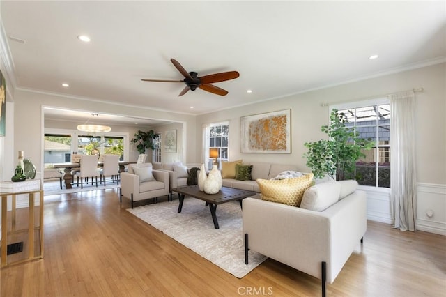
{"type": "Polygon", "coordinates": [[[313,185],[305,191],[300,208],[324,211],[339,200],[339,192],[341,192],[341,184],[337,181],[313,185]]]}

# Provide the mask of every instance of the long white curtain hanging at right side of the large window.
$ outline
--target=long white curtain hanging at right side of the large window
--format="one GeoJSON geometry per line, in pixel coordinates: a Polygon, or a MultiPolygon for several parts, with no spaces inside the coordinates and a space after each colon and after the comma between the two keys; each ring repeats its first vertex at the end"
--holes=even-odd
{"type": "Polygon", "coordinates": [[[415,93],[390,98],[390,202],[393,226],[415,231],[417,181],[415,172],[415,93]]]}

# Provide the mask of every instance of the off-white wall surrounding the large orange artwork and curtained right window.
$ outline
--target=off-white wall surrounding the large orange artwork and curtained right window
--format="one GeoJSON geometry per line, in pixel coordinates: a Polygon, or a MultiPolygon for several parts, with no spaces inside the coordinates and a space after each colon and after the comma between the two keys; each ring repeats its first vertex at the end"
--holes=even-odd
{"type": "MultiPolygon", "coordinates": [[[[419,229],[446,235],[446,63],[351,82],[326,89],[309,91],[277,100],[259,102],[204,114],[197,117],[196,135],[201,135],[204,123],[229,120],[230,160],[295,164],[309,171],[302,158],[305,142],[325,137],[321,125],[328,124],[328,106],[334,103],[355,102],[380,98],[387,93],[423,87],[416,93],[416,166],[418,191],[417,224],[419,229]],[[324,105],[324,106],[322,106],[324,105]],[[240,116],[291,109],[291,154],[240,153],[240,116]],[[421,189],[421,190],[420,190],[421,189]],[[426,211],[432,209],[432,218],[426,211]]],[[[255,90],[254,90],[255,91],[255,90]]],[[[200,160],[201,146],[196,159],[200,160]]],[[[369,199],[369,218],[390,223],[390,199],[386,193],[372,193],[369,199]]]]}

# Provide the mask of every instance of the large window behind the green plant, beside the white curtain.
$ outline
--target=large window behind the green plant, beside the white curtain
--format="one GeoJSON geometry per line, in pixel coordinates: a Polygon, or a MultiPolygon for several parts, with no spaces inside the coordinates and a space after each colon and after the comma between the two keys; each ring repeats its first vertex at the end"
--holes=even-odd
{"type": "Polygon", "coordinates": [[[365,157],[357,160],[355,178],[360,185],[390,188],[390,104],[387,99],[357,102],[351,107],[333,106],[346,114],[349,127],[362,139],[374,142],[365,157]]]}

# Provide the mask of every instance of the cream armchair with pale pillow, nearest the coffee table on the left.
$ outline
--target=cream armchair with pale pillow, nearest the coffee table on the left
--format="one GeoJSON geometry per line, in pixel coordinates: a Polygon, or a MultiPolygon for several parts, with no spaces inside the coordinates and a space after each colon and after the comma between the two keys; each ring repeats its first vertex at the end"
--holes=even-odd
{"type": "Polygon", "coordinates": [[[130,164],[128,172],[121,173],[122,197],[130,199],[132,208],[134,201],[141,201],[167,195],[169,199],[169,173],[153,170],[151,163],[130,164]]]}

